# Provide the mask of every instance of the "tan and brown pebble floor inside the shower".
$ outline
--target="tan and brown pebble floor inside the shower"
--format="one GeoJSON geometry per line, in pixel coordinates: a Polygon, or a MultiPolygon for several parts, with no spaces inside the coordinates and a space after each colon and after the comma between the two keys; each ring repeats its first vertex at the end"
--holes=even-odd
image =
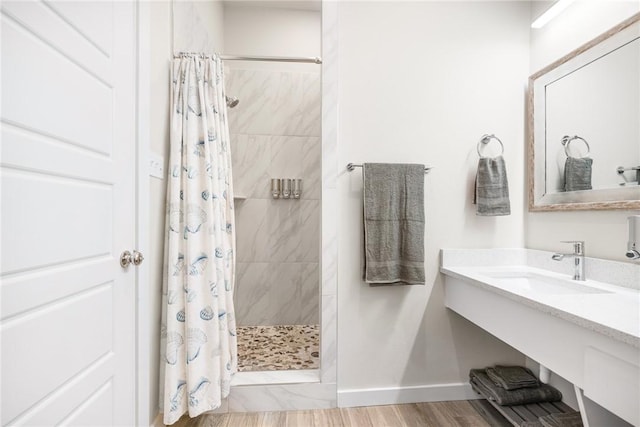
{"type": "Polygon", "coordinates": [[[238,371],[319,369],[318,325],[239,326],[238,371]]]}

